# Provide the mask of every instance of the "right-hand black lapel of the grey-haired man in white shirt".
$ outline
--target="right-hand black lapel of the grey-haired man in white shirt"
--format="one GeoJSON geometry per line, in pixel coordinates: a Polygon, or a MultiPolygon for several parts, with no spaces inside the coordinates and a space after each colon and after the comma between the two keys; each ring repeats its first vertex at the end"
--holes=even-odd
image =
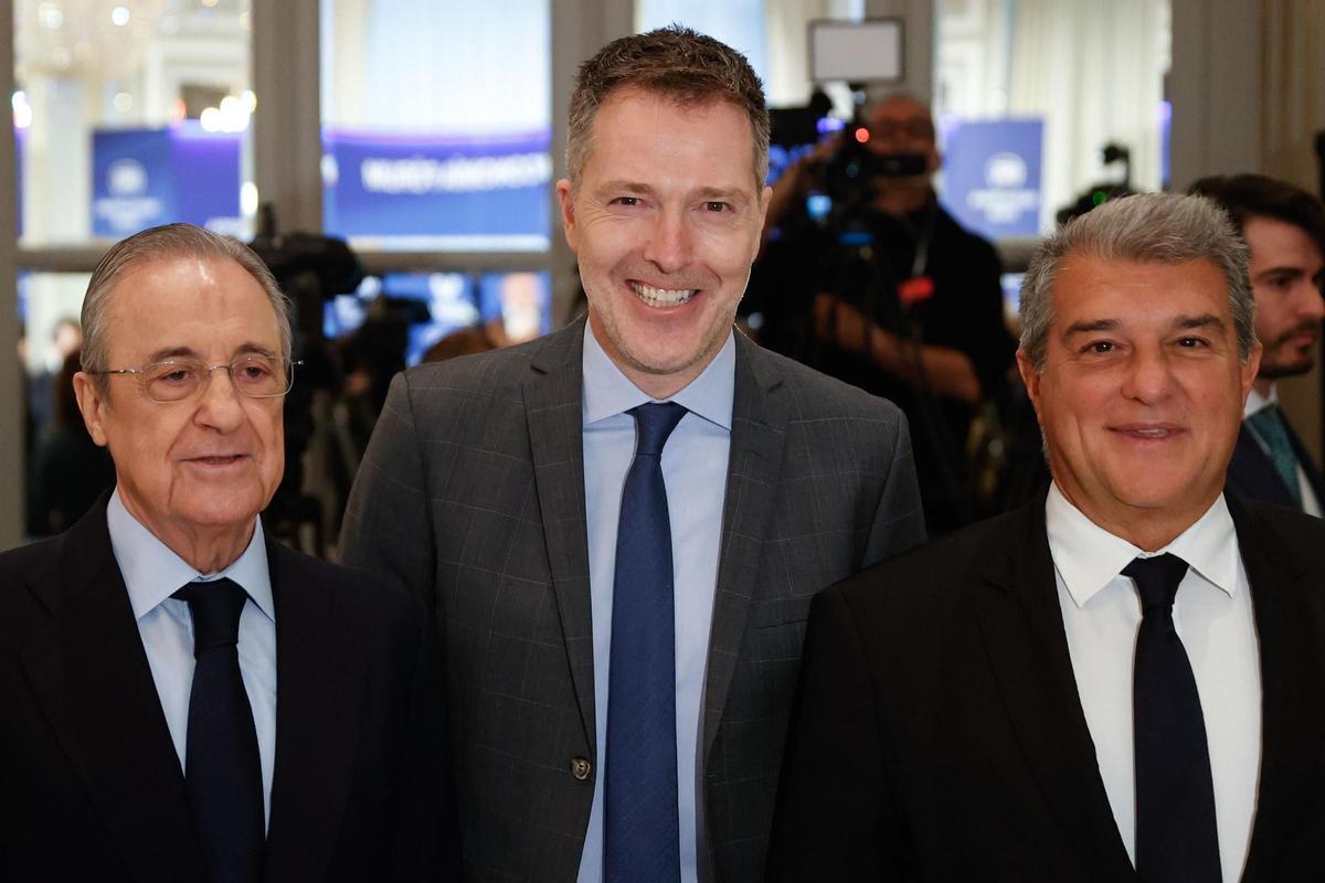
{"type": "Polygon", "coordinates": [[[1251,584],[1260,638],[1261,763],[1244,880],[1276,879],[1281,845],[1295,842],[1312,801],[1318,801],[1325,743],[1325,674],[1316,617],[1306,602],[1301,559],[1260,519],[1228,496],[1238,548],[1251,584]]]}

